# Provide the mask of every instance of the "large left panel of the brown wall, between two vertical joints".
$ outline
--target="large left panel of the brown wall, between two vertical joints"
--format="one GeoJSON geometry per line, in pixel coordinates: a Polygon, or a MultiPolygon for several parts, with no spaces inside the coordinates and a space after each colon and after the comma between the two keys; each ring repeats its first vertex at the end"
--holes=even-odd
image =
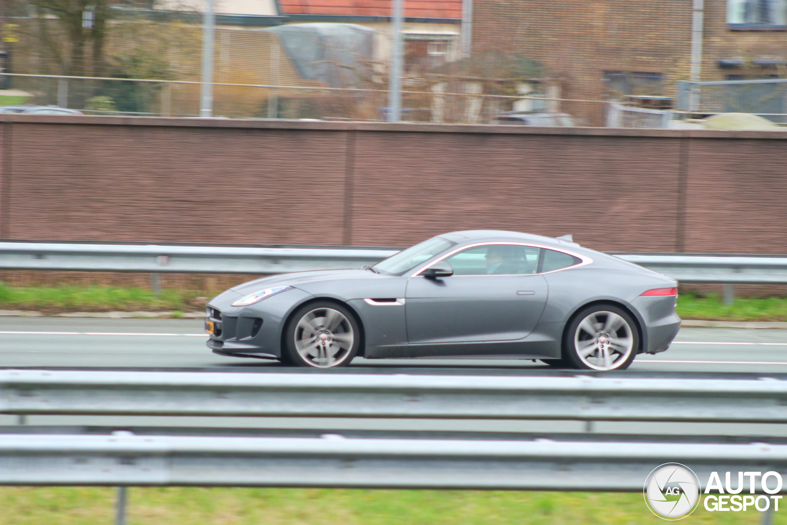
{"type": "Polygon", "coordinates": [[[345,131],[11,125],[11,237],[342,243],[345,131]]]}

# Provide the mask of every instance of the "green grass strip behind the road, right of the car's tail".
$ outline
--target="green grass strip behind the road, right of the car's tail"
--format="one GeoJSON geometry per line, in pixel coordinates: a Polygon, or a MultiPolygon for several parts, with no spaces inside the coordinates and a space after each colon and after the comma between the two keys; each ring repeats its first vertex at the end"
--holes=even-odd
{"type": "Polygon", "coordinates": [[[681,294],[677,312],[682,319],[787,321],[787,298],[736,298],[733,305],[725,305],[715,294],[681,294]]]}

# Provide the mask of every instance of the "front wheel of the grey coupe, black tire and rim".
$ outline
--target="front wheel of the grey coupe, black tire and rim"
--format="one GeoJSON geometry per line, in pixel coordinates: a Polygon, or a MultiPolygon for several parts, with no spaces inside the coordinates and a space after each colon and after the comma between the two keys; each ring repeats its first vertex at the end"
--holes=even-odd
{"type": "Polygon", "coordinates": [[[282,361],[294,366],[347,366],[360,346],[360,327],[355,316],[345,306],[331,301],[301,306],[285,330],[282,361]]]}

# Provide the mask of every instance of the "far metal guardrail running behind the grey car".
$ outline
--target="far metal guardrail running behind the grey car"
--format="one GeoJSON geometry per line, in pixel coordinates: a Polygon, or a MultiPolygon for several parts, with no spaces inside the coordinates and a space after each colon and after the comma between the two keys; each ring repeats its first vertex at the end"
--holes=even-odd
{"type": "MultiPolygon", "coordinates": [[[[399,248],[0,242],[0,269],[275,274],[359,268],[399,248]]],[[[787,257],[611,253],[684,283],[787,283],[787,257]]]]}

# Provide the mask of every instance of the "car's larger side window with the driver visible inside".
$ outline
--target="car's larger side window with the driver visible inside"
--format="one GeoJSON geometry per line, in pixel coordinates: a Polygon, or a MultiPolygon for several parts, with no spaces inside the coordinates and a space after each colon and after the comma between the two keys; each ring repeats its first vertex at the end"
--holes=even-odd
{"type": "Polygon", "coordinates": [[[445,260],[454,275],[517,275],[538,271],[538,253],[533,246],[493,244],[462,250],[445,260]]]}

